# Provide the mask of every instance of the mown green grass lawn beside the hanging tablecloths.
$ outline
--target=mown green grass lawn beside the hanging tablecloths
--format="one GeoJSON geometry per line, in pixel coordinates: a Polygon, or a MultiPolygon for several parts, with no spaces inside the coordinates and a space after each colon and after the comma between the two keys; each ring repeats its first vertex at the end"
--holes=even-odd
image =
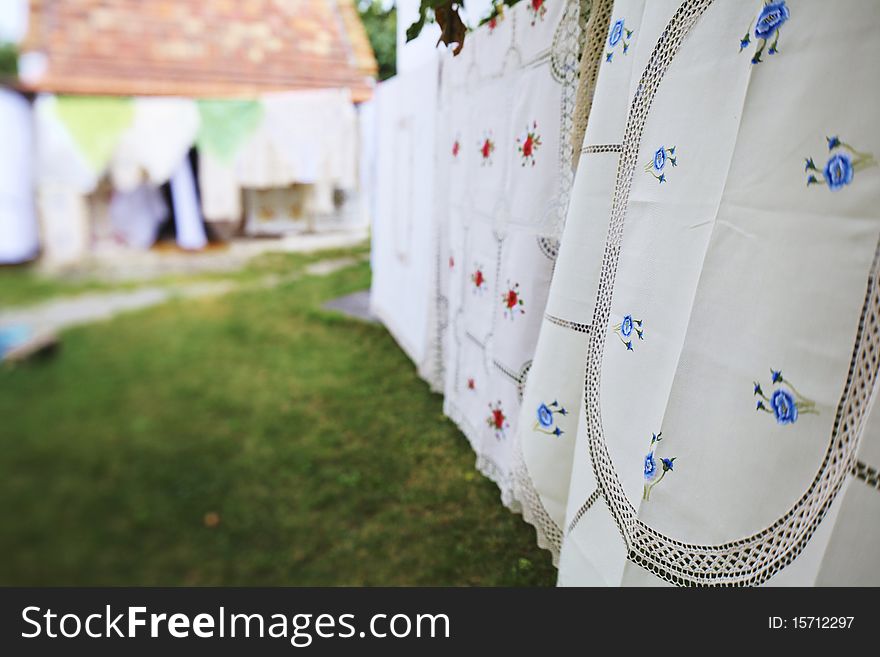
{"type": "Polygon", "coordinates": [[[553,584],[386,330],[320,309],[368,286],[172,302],[0,369],[0,583],[553,584]]]}

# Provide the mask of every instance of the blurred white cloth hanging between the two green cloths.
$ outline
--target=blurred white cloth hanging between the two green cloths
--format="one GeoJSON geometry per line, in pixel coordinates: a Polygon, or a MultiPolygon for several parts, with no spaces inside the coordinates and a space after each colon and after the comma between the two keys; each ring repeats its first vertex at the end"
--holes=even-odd
{"type": "Polygon", "coordinates": [[[119,139],[110,163],[113,186],[135,189],[146,178],[162,185],[189,152],[199,130],[199,112],[185,98],[136,98],[131,126],[119,139]]]}

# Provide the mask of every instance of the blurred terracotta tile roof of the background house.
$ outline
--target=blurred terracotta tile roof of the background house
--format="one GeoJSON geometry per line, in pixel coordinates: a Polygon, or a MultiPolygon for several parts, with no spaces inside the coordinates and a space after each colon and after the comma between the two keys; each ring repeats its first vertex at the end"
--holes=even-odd
{"type": "Polygon", "coordinates": [[[254,96],[349,87],[376,60],[354,0],[31,0],[30,88],[71,94],[254,96]]]}

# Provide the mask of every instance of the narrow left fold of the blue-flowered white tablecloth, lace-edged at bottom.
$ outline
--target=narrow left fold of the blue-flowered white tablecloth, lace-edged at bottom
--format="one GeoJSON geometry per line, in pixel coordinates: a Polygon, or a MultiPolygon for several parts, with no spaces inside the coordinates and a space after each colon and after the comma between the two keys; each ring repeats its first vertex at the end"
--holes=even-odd
{"type": "MultiPolygon", "coordinates": [[[[609,13],[598,5],[593,11],[609,13]]],[[[645,35],[656,27],[643,25],[644,6],[644,0],[614,3],[609,25],[624,22],[615,48],[607,38],[600,44],[602,64],[586,135],[577,146],[581,153],[571,205],[516,436],[515,496],[535,526],[538,544],[553,553],[554,562],[564,534],[589,324],[633,76],[638,78],[659,36],[645,35]]]]}

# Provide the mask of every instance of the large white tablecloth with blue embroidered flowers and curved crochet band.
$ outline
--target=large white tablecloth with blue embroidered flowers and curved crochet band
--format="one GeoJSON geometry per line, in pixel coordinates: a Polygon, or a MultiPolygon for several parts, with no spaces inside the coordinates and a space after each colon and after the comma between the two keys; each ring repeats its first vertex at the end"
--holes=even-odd
{"type": "Polygon", "coordinates": [[[561,584],[878,583],[878,24],[615,3],[519,432],[561,584]]]}

